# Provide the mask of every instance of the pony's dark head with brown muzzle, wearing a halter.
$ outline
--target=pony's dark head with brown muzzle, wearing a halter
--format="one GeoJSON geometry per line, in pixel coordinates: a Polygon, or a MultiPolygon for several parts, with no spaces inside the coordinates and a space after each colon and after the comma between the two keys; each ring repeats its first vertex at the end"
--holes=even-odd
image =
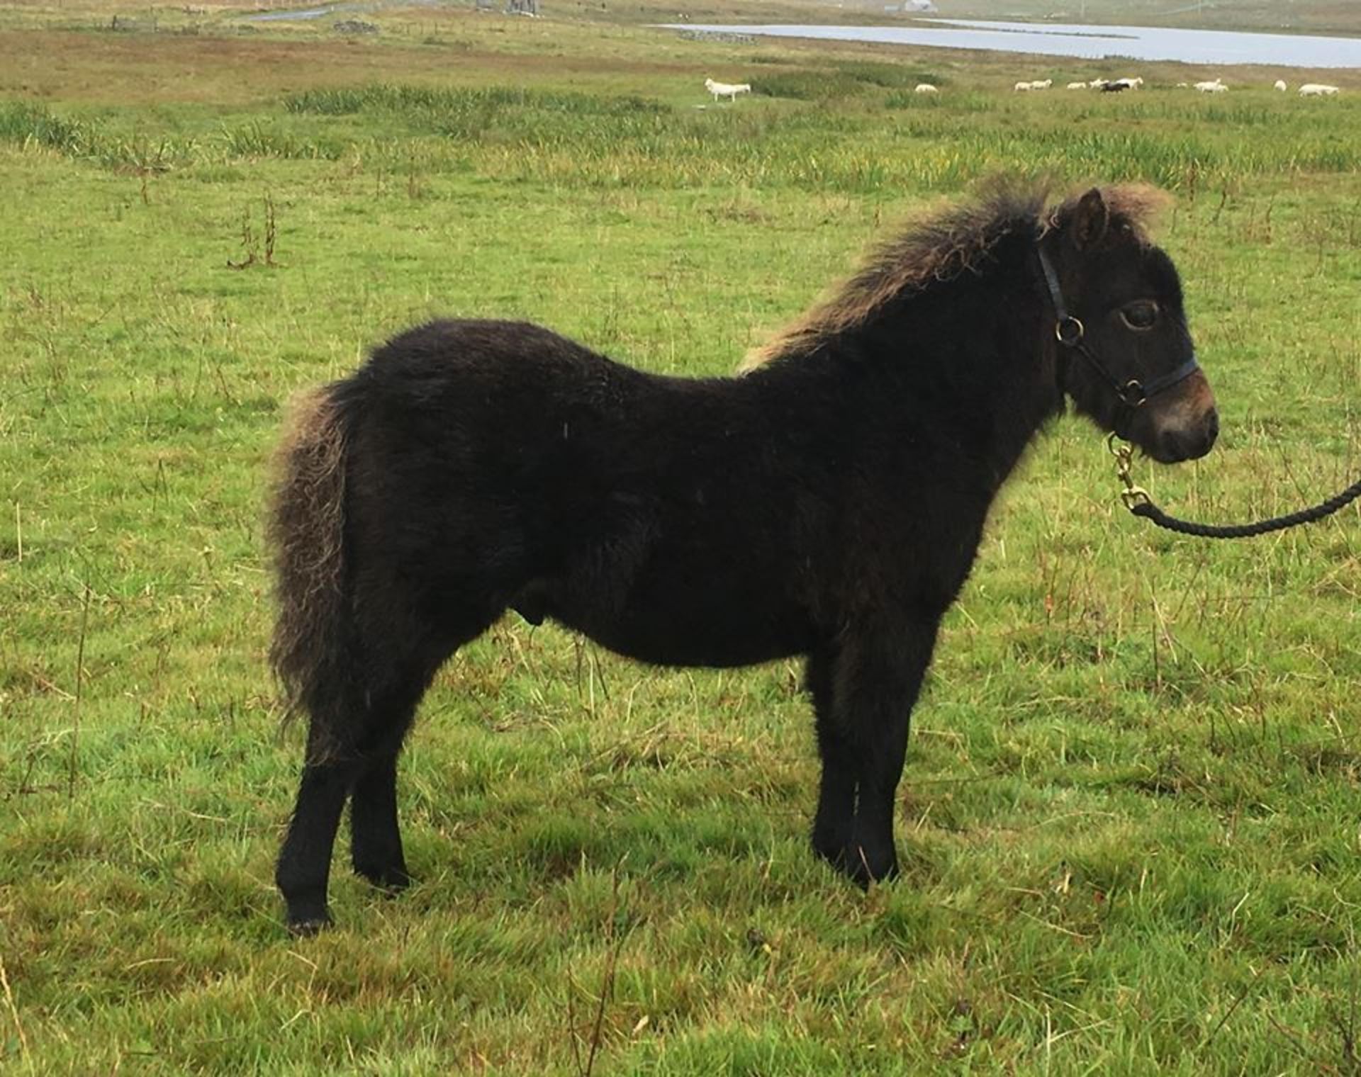
{"type": "Polygon", "coordinates": [[[1176,464],[1210,451],[1219,417],[1176,267],[1141,223],[1154,201],[1139,188],[1093,188],[1049,216],[1038,249],[1060,388],[1098,427],[1176,464]]]}

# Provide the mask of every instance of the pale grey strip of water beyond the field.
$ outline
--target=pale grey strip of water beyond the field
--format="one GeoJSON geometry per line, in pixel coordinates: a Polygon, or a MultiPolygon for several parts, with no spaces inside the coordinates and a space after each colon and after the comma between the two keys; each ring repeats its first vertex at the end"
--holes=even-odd
{"type": "Polygon", "coordinates": [[[732,26],[683,23],[670,30],[768,37],[872,41],[940,49],[1071,56],[1082,60],[1180,60],[1185,64],[1268,64],[1296,68],[1361,68],[1361,38],[1168,30],[1160,26],[915,19],[908,26],[732,26]]]}

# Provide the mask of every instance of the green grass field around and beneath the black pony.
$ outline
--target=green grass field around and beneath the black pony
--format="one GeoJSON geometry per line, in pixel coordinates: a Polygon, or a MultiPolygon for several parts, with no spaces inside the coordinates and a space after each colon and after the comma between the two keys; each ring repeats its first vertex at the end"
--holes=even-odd
{"type": "Polygon", "coordinates": [[[0,1072],[1361,1072],[1356,509],[1162,536],[1060,422],[947,620],[904,877],[867,895],[806,847],[795,664],[508,619],[404,760],[418,885],[338,865],[305,942],[261,551],[283,401],[385,335],[525,317],[724,373],[996,171],[1176,192],[1224,434],[1141,477],[1200,518],[1312,502],[1361,471],[1361,83],[1023,97],[1015,58],[206,7],[0,7],[0,1072]],[[697,109],[706,73],[754,94],[697,109]]]}

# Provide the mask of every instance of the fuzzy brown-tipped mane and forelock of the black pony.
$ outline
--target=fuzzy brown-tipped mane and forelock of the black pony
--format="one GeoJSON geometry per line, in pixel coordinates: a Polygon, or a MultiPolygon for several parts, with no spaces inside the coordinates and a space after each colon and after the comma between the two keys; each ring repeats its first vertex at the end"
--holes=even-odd
{"type": "MultiPolygon", "coordinates": [[[[1147,242],[1146,223],[1168,196],[1150,186],[1101,188],[1111,211],[1112,228],[1128,227],[1147,242]]],[[[972,203],[951,207],[915,222],[894,238],[879,243],[845,280],[808,311],[780,330],[768,344],[742,360],[740,371],[806,354],[819,343],[867,322],[885,305],[906,291],[923,291],[935,281],[980,272],[989,252],[1007,235],[1029,231],[1043,235],[1062,230],[1078,197],[1045,212],[1048,188],[1000,184],[972,203]]]]}

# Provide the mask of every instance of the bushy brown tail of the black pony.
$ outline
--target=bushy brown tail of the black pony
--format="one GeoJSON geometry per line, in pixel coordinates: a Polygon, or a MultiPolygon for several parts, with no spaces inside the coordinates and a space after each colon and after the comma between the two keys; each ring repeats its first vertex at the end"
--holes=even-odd
{"type": "Polygon", "coordinates": [[[287,715],[310,710],[323,722],[312,704],[344,647],[344,458],[333,386],[298,394],[275,454],[268,537],[279,609],[269,664],[287,715]]]}

